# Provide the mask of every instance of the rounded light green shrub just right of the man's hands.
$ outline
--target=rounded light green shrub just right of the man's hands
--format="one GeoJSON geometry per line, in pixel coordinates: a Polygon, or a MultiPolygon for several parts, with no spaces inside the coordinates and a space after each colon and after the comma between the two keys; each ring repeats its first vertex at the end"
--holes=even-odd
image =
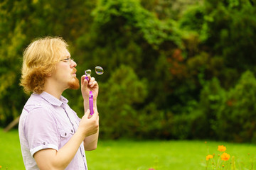
{"type": "Polygon", "coordinates": [[[138,105],[146,97],[146,81],[139,80],[133,69],[121,65],[105,84],[98,99],[101,137],[132,137],[137,127],[138,105]]]}

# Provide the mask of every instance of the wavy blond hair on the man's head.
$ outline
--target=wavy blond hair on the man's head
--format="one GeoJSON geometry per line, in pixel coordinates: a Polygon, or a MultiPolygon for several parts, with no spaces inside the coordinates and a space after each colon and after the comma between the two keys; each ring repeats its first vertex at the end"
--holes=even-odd
{"type": "Polygon", "coordinates": [[[26,94],[41,94],[46,77],[55,70],[55,65],[67,49],[68,44],[60,37],[46,37],[33,40],[23,52],[21,86],[26,94]]]}

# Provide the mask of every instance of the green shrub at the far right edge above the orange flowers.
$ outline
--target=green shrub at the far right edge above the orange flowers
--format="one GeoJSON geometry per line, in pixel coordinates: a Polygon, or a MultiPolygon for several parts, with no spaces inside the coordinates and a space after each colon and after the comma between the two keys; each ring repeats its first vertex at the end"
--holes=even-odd
{"type": "Polygon", "coordinates": [[[252,72],[242,74],[240,81],[228,91],[217,114],[215,129],[220,140],[252,142],[256,140],[256,79],[252,72]]]}

